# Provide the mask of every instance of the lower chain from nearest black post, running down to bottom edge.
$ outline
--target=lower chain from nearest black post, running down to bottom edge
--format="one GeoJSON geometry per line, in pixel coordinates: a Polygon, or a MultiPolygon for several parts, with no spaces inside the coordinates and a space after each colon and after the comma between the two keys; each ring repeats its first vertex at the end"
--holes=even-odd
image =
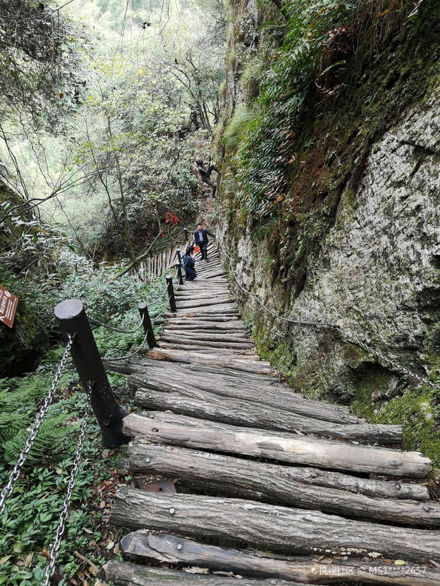
{"type": "Polygon", "coordinates": [[[70,472],[70,479],[69,484],[67,485],[67,493],[65,495],[65,499],[63,502],[63,510],[61,512],[60,523],[58,524],[58,528],[56,529],[55,541],[51,544],[49,563],[47,564],[45,571],[45,581],[43,583],[44,586],[50,586],[50,578],[54,574],[56,560],[58,559],[58,554],[60,552],[61,539],[63,539],[63,534],[65,532],[67,515],[69,513],[69,504],[72,500],[72,494],[75,488],[76,477],[78,476],[78,472],[80,469],[81,452],[83,451],[87,422],[89,421],[90,417],[90,393],[91,385],[89,384],[89,387],[86,390],[87,405],[85,407],[83,424],[81,425],[80,435],[78,437],[78,447],[76,448],[75,460],[74,464],[72,465],[72,471],[70,472]]]}

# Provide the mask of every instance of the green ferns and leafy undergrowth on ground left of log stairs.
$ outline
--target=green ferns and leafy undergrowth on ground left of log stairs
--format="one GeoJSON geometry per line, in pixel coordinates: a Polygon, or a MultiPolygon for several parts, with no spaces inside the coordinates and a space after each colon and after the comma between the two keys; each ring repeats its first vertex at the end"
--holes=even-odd
{"type": "MultiPolygon", "coordinates": [[[[126,328],[139,323],[137,300],[146,300],[152,317],[162,311],[167,302],[166,295],[162,295],[163,279],[151,284],[136,284],[127,277],[122,286],[110,279],[116,269],[92,269],[90,264],[84,260],[81,263],[81,259],[76,256],[68,259],[64,257],[63,262],[60,274],[66,271],[70,275],[68,284],[65,284],[66,291],[74,288],[87,306],[93,307],[96,312],[111,311],[113,314],[113,311],[118,311],[115,319],[107,315],[109,323],[113,325],[126,328]],[[70,273],[73,259],[78,263],[76,273],[70,273]],[[80,284],[83,284],[83,289],[80,289],[80,284]]],[[[60,294],[64,294],[63,285],[60,294]]],[[[98,327],[94,329],[94,335],[102,355],[131,352],[144,337],[142,328],[138,333],[122,335],[98,327]]],[[[0,381],[0,486],[5,484],[10,466],[17,461],[23,449],[63,350],[64,346],[59,346],[48,352],[34,374],[0,381]]],[[[118,373],[108,373],[108,376],[118,400],[130,403],[127,377],[118,373]]],[[[40,428],[30,458],[24,466],[24,473],[14,485],[14,493],[8,499],[5,515],[0,519],[0,559],[5,559],[0,565],[0,585],[41,584],[47,565],[45,548],[53,542],[58,526],[76,452],[78,424],[85,409],[85,395],[78,388],[76,379],[77,374],[69,361],[56,390],[55,403],[40,428]]],[[[109,460],[103,459],[99,427],[96,420],[91,418],[58,560],[56,575],[61,581],[77,574],[80,561],[75,556],[76,551],[84,552],[98,567],[105,561],[96,542],[90,544],[91,534],[85,532],[84,528],[93,532],[95,539],[99,539],[102,523],[101,483],[113,479],[118,458],[119,455],[109,460]]]]}

